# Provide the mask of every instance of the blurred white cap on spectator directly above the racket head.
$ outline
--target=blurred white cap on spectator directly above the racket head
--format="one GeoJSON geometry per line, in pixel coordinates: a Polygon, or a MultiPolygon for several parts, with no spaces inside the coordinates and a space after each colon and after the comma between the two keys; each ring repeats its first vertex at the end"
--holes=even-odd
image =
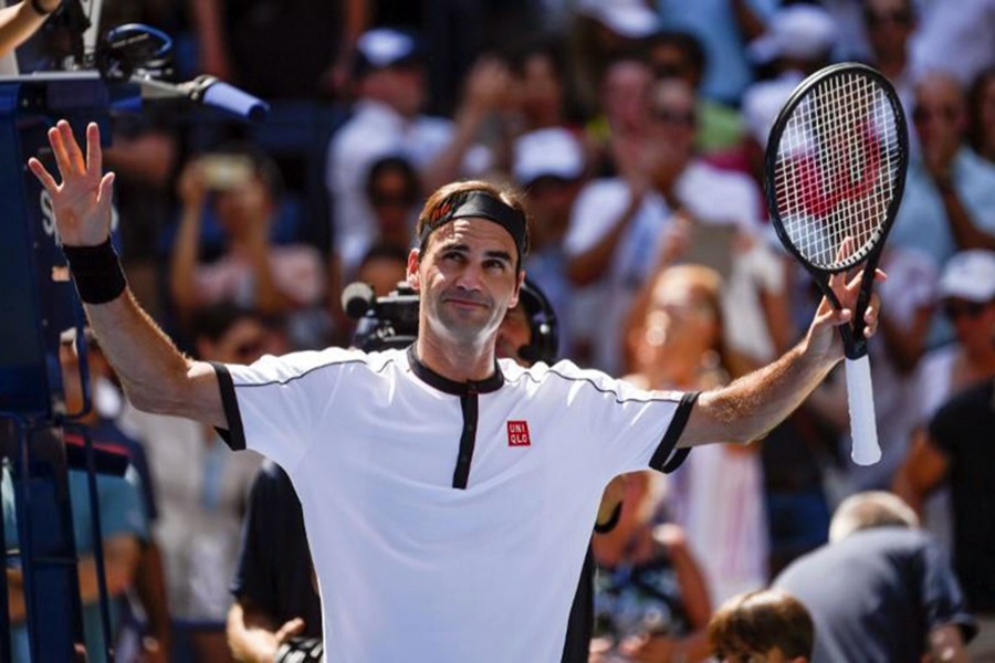
{"type": "Polygon", "coordinates": [[[774,14],[767,30],[747,50],[761,63],[775,57],[810,61],[831,50],[836,38],[836,21],[825,9],[792,4],[774,14]]]}

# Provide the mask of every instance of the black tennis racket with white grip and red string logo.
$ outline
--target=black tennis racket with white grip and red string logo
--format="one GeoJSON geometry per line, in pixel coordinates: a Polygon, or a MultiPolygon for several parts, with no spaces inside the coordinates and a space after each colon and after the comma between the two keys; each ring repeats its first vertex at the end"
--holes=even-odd
{"type": "Polygon", "coordinates": [[[901,102],[869,66],[828,66],[795,88],[771,129],[765,156],[767,208],[777,236],[837,311],[829,277],[863,264],[852,320],[839,329],[847,356],[850,455],[858,465],[871,465],[881,449],[863,314],[905,185],[909,136],[901,102]]]}

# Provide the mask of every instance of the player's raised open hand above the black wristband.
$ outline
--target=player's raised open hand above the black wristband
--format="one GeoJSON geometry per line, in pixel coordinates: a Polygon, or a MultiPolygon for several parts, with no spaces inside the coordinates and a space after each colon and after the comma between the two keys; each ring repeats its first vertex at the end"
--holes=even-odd
{"type": "Polygon", "coordinates": [[[67,246],[103,244],[111,232],[111,201],[114,173],[102,173],[101,131],[96,124],[86,126],[86,157],[80,149],[73,129],[64,119],[49,129],[49,144],[62,182],[32,157],[28,167],[39,179],[55,212],[55,228],[67,246]]]}

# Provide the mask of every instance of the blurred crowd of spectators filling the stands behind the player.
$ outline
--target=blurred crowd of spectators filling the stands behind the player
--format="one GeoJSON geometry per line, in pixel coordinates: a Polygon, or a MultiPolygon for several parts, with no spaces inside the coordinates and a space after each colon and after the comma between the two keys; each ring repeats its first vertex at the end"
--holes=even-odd
{"type": "MultiPolygon", "coordinates": [[[[114,122],[124,266],[186,351],[348,345],[343,287],[394,290],[426,194],[474,177],[526,193],[525,270],[561,357],[651,389],[723,385],[800,339],[818,291],[767,219],[767,134],[808,74],[880,70],[912,145],[870,341],[883,459],[849,461],[840,367],[764,440],[628,477],[594,539],[593,655],[704,657],[714,608],[826,546],[846,497],[888,491],[951,560],[995,656],[995,2],[106,0],[102,21],[161,28],[177,80],[211,73],[272,105],[259,125],[154,106],[114,122]]],[[[260,460],[134,410],[98,352],[94,435],[145,461],[121,497],[145,525],[112,533],[138,544],[108,559],[128,596],[119,655],[228,660],[260,460]]],[[[270,618],[270,645],[320,633],[313,611],[291,617],[270,618]]]]}

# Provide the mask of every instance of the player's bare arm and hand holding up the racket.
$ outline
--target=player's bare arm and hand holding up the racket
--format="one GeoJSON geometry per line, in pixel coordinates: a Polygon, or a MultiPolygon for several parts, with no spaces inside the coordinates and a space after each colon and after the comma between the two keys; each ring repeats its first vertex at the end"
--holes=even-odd
{"type": "MultiPolygon", "coordinates": [[[[849,283],[845,274],[830,278],[841,311],[835,311],[824,298],[805,338],[779,359],[726,387],[703,392],[678,446],[746,443],[763,438],[784,421],[844,358],[837,326],[849,323],[852,317],[860,277],[858,274],[849,283]]],[[[879,277],[883,278],[884,274],[879,272],[879,277]]],[[[879,301],[874,295],[863,315],[866,336],[877,329],[878,309],[879,301]]]]}

